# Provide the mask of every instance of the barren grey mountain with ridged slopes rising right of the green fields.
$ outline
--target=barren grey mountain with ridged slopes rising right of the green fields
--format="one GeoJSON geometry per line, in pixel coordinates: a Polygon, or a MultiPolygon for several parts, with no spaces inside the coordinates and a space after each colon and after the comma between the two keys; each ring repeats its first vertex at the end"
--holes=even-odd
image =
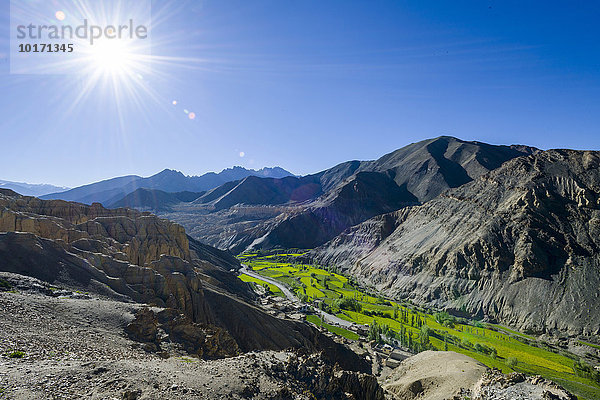
{"type": "Polygon", "coordinates": [[[600,152],[519,157],[309,256],[397,298],[535,333],[600,334],[600,152]]]}

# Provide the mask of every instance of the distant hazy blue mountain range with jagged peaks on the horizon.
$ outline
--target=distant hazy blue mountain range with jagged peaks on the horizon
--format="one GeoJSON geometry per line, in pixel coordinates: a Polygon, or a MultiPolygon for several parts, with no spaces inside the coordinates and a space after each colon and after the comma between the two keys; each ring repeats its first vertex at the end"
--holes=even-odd
{"type": "Polygon", "coordinates": [[[225,169],[218,174],[209,172],[201,176],[186,176],[179,171],[165,169],[148,178],[128,175],[48,194],[41,196],[41,198],[44,200],[60,199],[84,204],[101,203],[109,205],[118,203],[125,196],[142,188],[156,189],[168,193],[204,192],[231,180],[240,180],[248,176],[281,178],[291,175],[290,172],[279,167],[262,168],[260,170],[234,167],[225,169]]]}

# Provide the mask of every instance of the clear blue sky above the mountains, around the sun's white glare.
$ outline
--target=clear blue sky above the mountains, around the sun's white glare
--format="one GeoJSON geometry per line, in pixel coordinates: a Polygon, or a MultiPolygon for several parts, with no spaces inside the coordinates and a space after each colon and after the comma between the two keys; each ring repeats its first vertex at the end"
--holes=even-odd
{"type": "Polygon", "coordinates": [[[594,1],[155,0],[152,53],[171,61],[118,99],[10,75],[0,4],[0,179],[306,174],[439,135],[600,149],[594,1]]]}

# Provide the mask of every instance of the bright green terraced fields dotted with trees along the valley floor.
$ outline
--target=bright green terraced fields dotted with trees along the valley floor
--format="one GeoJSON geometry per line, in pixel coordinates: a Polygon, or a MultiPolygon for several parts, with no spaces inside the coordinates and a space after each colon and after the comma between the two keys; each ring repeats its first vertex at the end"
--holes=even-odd
{"type": "MultiPolygon", "coordinates": [[[[505,373],[541,375],[581,398],[600,398],[600,373],[564,349],[500,325],[382,298],[335,269],[302,264],[297,259],[300,255],[253,253],[239,258],[254,272],[286,284],[301,301],[347,321],[368,325],[367,340],[388,342],[414,353],[428,349],[455,351],[505,373]]],[[[265,281],[248,275],[240,278],[283,296],[265,281]]],[[[325,324],[316,315],[309,315],[307,320],[336,335],[360,340],[355,332],[325,324]]]]}

